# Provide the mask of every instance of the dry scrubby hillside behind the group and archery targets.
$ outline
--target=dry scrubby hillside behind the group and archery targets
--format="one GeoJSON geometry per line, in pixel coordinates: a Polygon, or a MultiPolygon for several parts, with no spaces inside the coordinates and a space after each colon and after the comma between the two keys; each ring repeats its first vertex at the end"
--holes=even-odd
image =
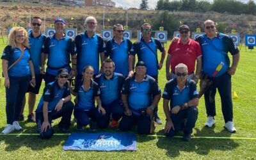
{"type": "MultiPolygon", "coordinates": [[[[67,6],[47,6],[42,4],[29,4],[29,3],[0,3],[0,27],[2,33],[7,31],[8,26],[12,26],[13,22],[17,22],[19,26],[28,26],[29,24],[29,11],[31,17],[40,16],[44,19],[46,17],[45,27],[49,27],[55,17],[63,17],[67,24],[74,24],[78,33],[83,31],[83,22],[88,15],[93,15],[98,20],[99,31],[102,29],[103,22],[103,9],[102,8],[79,8],[67,6]],[[71,20],[71,17],[74,20],[71,20]]],[[[126,12],[128,13],[128,26],[134,32],[140,29],[143,22],[160,22],[158,15],[163,11],[159,10],[137,10],[129,9],[123,10],[122,8],[106,8],[105,9],[105,25],[113,26],[115,23],[126,24],[126,12]],[[109,22],[108,22],[109,19],[109,22]]],[[[226,26],[226,32],[230,33],[231,29],[236,29],[237,33],[243,35],[248,32],[249,24],[251,30],[256,32],[256,17],[253,15],[228,15],[227,13],[221,14],[216,12],[207,13],[194,13],[194,12],[169,12],[177,17],[177,23],[181,21],[188,24],[192,31],[198,27],[198,22],[202,24],[206,19],[212,19],[221,26],[226,26]]],[[[201,25],[202,28],[202,25],[201,25]]],[[[173,35],[173,33],[169,33],[173,35]]]]}

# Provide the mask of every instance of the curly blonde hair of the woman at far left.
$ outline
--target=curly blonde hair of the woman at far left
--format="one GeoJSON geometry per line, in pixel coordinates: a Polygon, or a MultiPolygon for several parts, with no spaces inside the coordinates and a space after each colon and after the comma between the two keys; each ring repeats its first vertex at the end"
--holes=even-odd
{"type": "Polygon", "coordinates": [[[29,47],[28,32],[26,31],[25,28],[22,28],[22,27],[13,27],[11,29],[10,34],[8,35],[8,45],[11,45],[12,48],[17,47],[15,38],[16,38],[17,32],[19,32],[19,31],[22,31],[24,33],[24,42],[22,43],[22,45],[24,45],[24,47],[29,47]]]}

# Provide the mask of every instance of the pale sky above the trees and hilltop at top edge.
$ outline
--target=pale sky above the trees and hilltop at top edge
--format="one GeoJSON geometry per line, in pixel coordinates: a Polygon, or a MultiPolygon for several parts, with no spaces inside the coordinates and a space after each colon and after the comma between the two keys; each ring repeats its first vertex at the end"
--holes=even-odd
{"type": "MultiPolygon", "coordinates": [[[[128,8],[140,8],[141,0],[112,0],[116,3],[116,7],[121,6],[124,9],[128,8]]],[[[150,9],[156,8],[158,0],[148,0],[148,6],[150,9]]],[[[172,1],[172,0],[170,0],[172,1]]],[[[206,0],[205,0],[206,1],[206,0]]],[[[213,0],[210,0],[213,1],[213,0]]],[[[247,3],[249,0],[241,0],[244,3],[247,3]]],[[[256,0],[253,0],[256,3],[256,0]]]]}

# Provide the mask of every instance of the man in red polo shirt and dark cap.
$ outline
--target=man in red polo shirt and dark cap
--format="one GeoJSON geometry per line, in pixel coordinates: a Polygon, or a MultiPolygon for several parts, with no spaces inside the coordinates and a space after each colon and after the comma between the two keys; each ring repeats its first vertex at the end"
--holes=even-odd
{"type": "Polygon", "coordinates": [[[166,79],[170,80],[175,77],[175,66],[184,63],[188,66],[188,78],[198,83],[202,70],[202,51],[201,47],[195,40],[189,38],[189,27],[182,25],[179,27],[179,38],[170,44],[166,60],[166,79]],[[196,72],[195,71],[196,61],[196,72]],[[170,65],[172,72],[170,72],[170,65]]]}

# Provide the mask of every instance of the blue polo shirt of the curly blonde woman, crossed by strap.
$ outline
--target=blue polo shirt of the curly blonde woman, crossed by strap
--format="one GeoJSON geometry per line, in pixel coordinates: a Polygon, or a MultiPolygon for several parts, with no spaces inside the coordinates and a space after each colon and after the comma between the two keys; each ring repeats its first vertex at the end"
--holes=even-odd
{"type": "MultiPolygon", "coordinates": [[[[8,61],[8,67],[10,67],[16,60],[20,58],[20,55],[22,54],[22,51],[19,48],[12,49],[12,46],[7,45],[4,48],[3,55],[1,59],[8,61]]],[[[24,48],[24,54],[22,58],[13,65],[10,70],[8,70],[8,76],[10,77],[24,77],[29,76],[30,73],[30,67],[29,67],[29,60],[31,60],[29,49],[24,48]]]]}

